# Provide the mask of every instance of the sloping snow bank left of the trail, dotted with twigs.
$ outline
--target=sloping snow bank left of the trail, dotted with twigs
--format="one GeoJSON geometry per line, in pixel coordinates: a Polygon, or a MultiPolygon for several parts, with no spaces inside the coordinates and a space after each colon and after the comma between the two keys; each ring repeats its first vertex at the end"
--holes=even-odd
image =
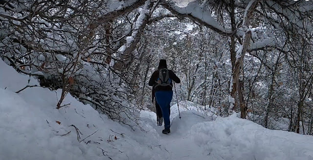
{"type": "MultiPolygon", "coordinates": [[[[61,90],[15,93],[28,79],[0,60],[0,160],[162,159],[151,147],[159,143],[149,124],[142,123],[148,133],[131,131],[70,95],[64,101],[69,105],[57,110],[61,90]]],[[[29,85],[36,84],[31,78],[29,85]]]]}

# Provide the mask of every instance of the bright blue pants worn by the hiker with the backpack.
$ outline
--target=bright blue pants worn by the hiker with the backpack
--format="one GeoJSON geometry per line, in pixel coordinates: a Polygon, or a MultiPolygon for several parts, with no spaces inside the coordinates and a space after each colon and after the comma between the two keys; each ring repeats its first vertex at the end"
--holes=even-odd
{"type": "Polygon", "coordinates": [[[156,102],[160,105],[164,119],[164,127],[170,128],[169,108],[172,101],[173,91],[156,91],[156,102]]]}

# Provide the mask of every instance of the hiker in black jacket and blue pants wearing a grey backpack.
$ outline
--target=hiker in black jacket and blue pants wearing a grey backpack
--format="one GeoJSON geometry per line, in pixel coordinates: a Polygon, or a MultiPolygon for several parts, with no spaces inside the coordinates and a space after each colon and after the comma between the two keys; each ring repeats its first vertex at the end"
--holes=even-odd
{"type": "Polygon", "coordinates": [[[149,86],[154,86],[156,103],[160,106],[164,120],[163,134],[170,133],[170,103],[173,97],[173,82],[180,83],[172,70],[167,69],[166,60],[160,60],[157,70],[149,80],[149,86]]]}

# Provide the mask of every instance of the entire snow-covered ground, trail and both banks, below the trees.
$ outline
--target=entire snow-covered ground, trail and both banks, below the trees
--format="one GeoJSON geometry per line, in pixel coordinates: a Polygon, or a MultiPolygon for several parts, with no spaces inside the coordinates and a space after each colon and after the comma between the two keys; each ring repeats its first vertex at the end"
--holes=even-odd
{"type": "Polygon", "coordinates": [[[60,90],[15,93],[27,80],[0,60],[0,160],[313,160],[312,136],[268,130],[236,115],[212,121],[195,107],[180,108],[179,119],[177,105],[169,135],[150,111],[141,112],[145,131],[132,131],[70,95],[64,101],[70,105],[55,109],[60,90]]]}

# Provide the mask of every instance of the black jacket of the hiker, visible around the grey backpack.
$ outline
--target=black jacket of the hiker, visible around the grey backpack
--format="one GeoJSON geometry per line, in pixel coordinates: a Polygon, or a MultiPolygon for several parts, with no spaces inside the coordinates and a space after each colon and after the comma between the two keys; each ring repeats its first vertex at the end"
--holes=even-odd
{"type": "MultiPolygon", "coordinates": [[[[174,80],[176,83],[180,83],[179,78],[175,75],[175,73],[172,70],[168,70],[169,71],[169,77],[171,80],[174,80]]],[[[153,72],[150,80],[149,80],[149,86],[153,86],[156,85],[156,81],[158,79],[158,70],[153,72]]],[[[173,88],[173,83],[171,82],[171,86],[156,86],[155,88],[153,88],[153,90],[156,91],[172,91],[173,88]]]]}

